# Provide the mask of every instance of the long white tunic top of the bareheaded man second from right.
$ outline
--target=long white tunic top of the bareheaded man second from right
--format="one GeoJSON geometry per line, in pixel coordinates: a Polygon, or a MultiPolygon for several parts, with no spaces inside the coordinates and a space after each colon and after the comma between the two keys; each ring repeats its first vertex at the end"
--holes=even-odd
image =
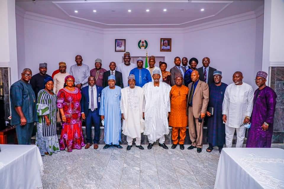
{"type": "Polygon", "coordinates": [[[222,107],[222,114],[227,115],[225,126],[240,128],[245,117],[251,117],[253,101],[254,91],[249,84],[228,85],[222,107]]]}

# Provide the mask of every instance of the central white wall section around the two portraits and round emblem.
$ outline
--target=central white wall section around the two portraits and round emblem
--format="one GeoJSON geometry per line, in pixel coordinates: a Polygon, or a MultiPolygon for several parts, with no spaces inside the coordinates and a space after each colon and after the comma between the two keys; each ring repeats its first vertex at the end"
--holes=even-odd
{"type": "MultiPolygon", "coordinates": [[[[182,56],[183,53],[183,33],[178,33],[177,30],[129,30],[120,31],[114,30],[104,34],[104,57],[103,64],[108,68],[109,62],[114,61],[117,64],[121,63],[123,52],[114,51],[114,39],[126,39],[126,51],[130,52],[131,56],[146,56],[146,50],[140,50],[137,47],[138,40],[144,38],[148,40],[149,47],[147,49],[148,56],[164,56],[167,63],[167,70],[174,66],[174,58],[182,56]],[[172,38],[172,51],[160,52],[160,38],[172,38]]],[[[156,61],[155,66],[159,67],[159,62],[156,61]]]]}

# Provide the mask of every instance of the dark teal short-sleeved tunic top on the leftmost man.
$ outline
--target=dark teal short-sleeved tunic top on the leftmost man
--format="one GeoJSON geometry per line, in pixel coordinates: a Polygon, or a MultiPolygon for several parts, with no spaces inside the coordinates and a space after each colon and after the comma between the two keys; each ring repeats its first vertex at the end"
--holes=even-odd
{"type": "Polygon", "coordinates": [[[38,121],[36,112],[35,92],[31,84],[19,80],[10,87],[10,103],[11,103],[11,125],[21,123],[15,107],[22,107],[22,112],[27,120],[27,123],[38,121]]]}

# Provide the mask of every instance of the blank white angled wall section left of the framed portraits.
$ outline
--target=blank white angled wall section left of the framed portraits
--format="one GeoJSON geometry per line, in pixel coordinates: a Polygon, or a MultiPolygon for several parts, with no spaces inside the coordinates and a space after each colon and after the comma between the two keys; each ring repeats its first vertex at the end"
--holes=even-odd
{"type": "Polygon", "coordinates": [[[67,71],[75,64],[75,56],[82,55],[83,63],[93,68],[96,57],[103,54],[103,35],[64,25],[24,19],[25,66],[38,73],[39,63],[46,62],[47,74],[58,69],[64,61],[67,71]]]}

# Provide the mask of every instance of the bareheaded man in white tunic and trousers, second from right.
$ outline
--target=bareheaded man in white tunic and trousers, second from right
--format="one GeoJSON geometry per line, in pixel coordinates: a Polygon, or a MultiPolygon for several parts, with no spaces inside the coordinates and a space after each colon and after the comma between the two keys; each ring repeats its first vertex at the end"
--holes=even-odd
{"type": "Polygon", "coordinates": [[[225,122],[226,147],[232,147],[235,130],[237,132],[236,148],[243,147],[246,128],[253,108],[254,91],[249,84],[243,82],[243,74],[233,74],[233,82],[225,90],[222,114],[225,122]]]}

